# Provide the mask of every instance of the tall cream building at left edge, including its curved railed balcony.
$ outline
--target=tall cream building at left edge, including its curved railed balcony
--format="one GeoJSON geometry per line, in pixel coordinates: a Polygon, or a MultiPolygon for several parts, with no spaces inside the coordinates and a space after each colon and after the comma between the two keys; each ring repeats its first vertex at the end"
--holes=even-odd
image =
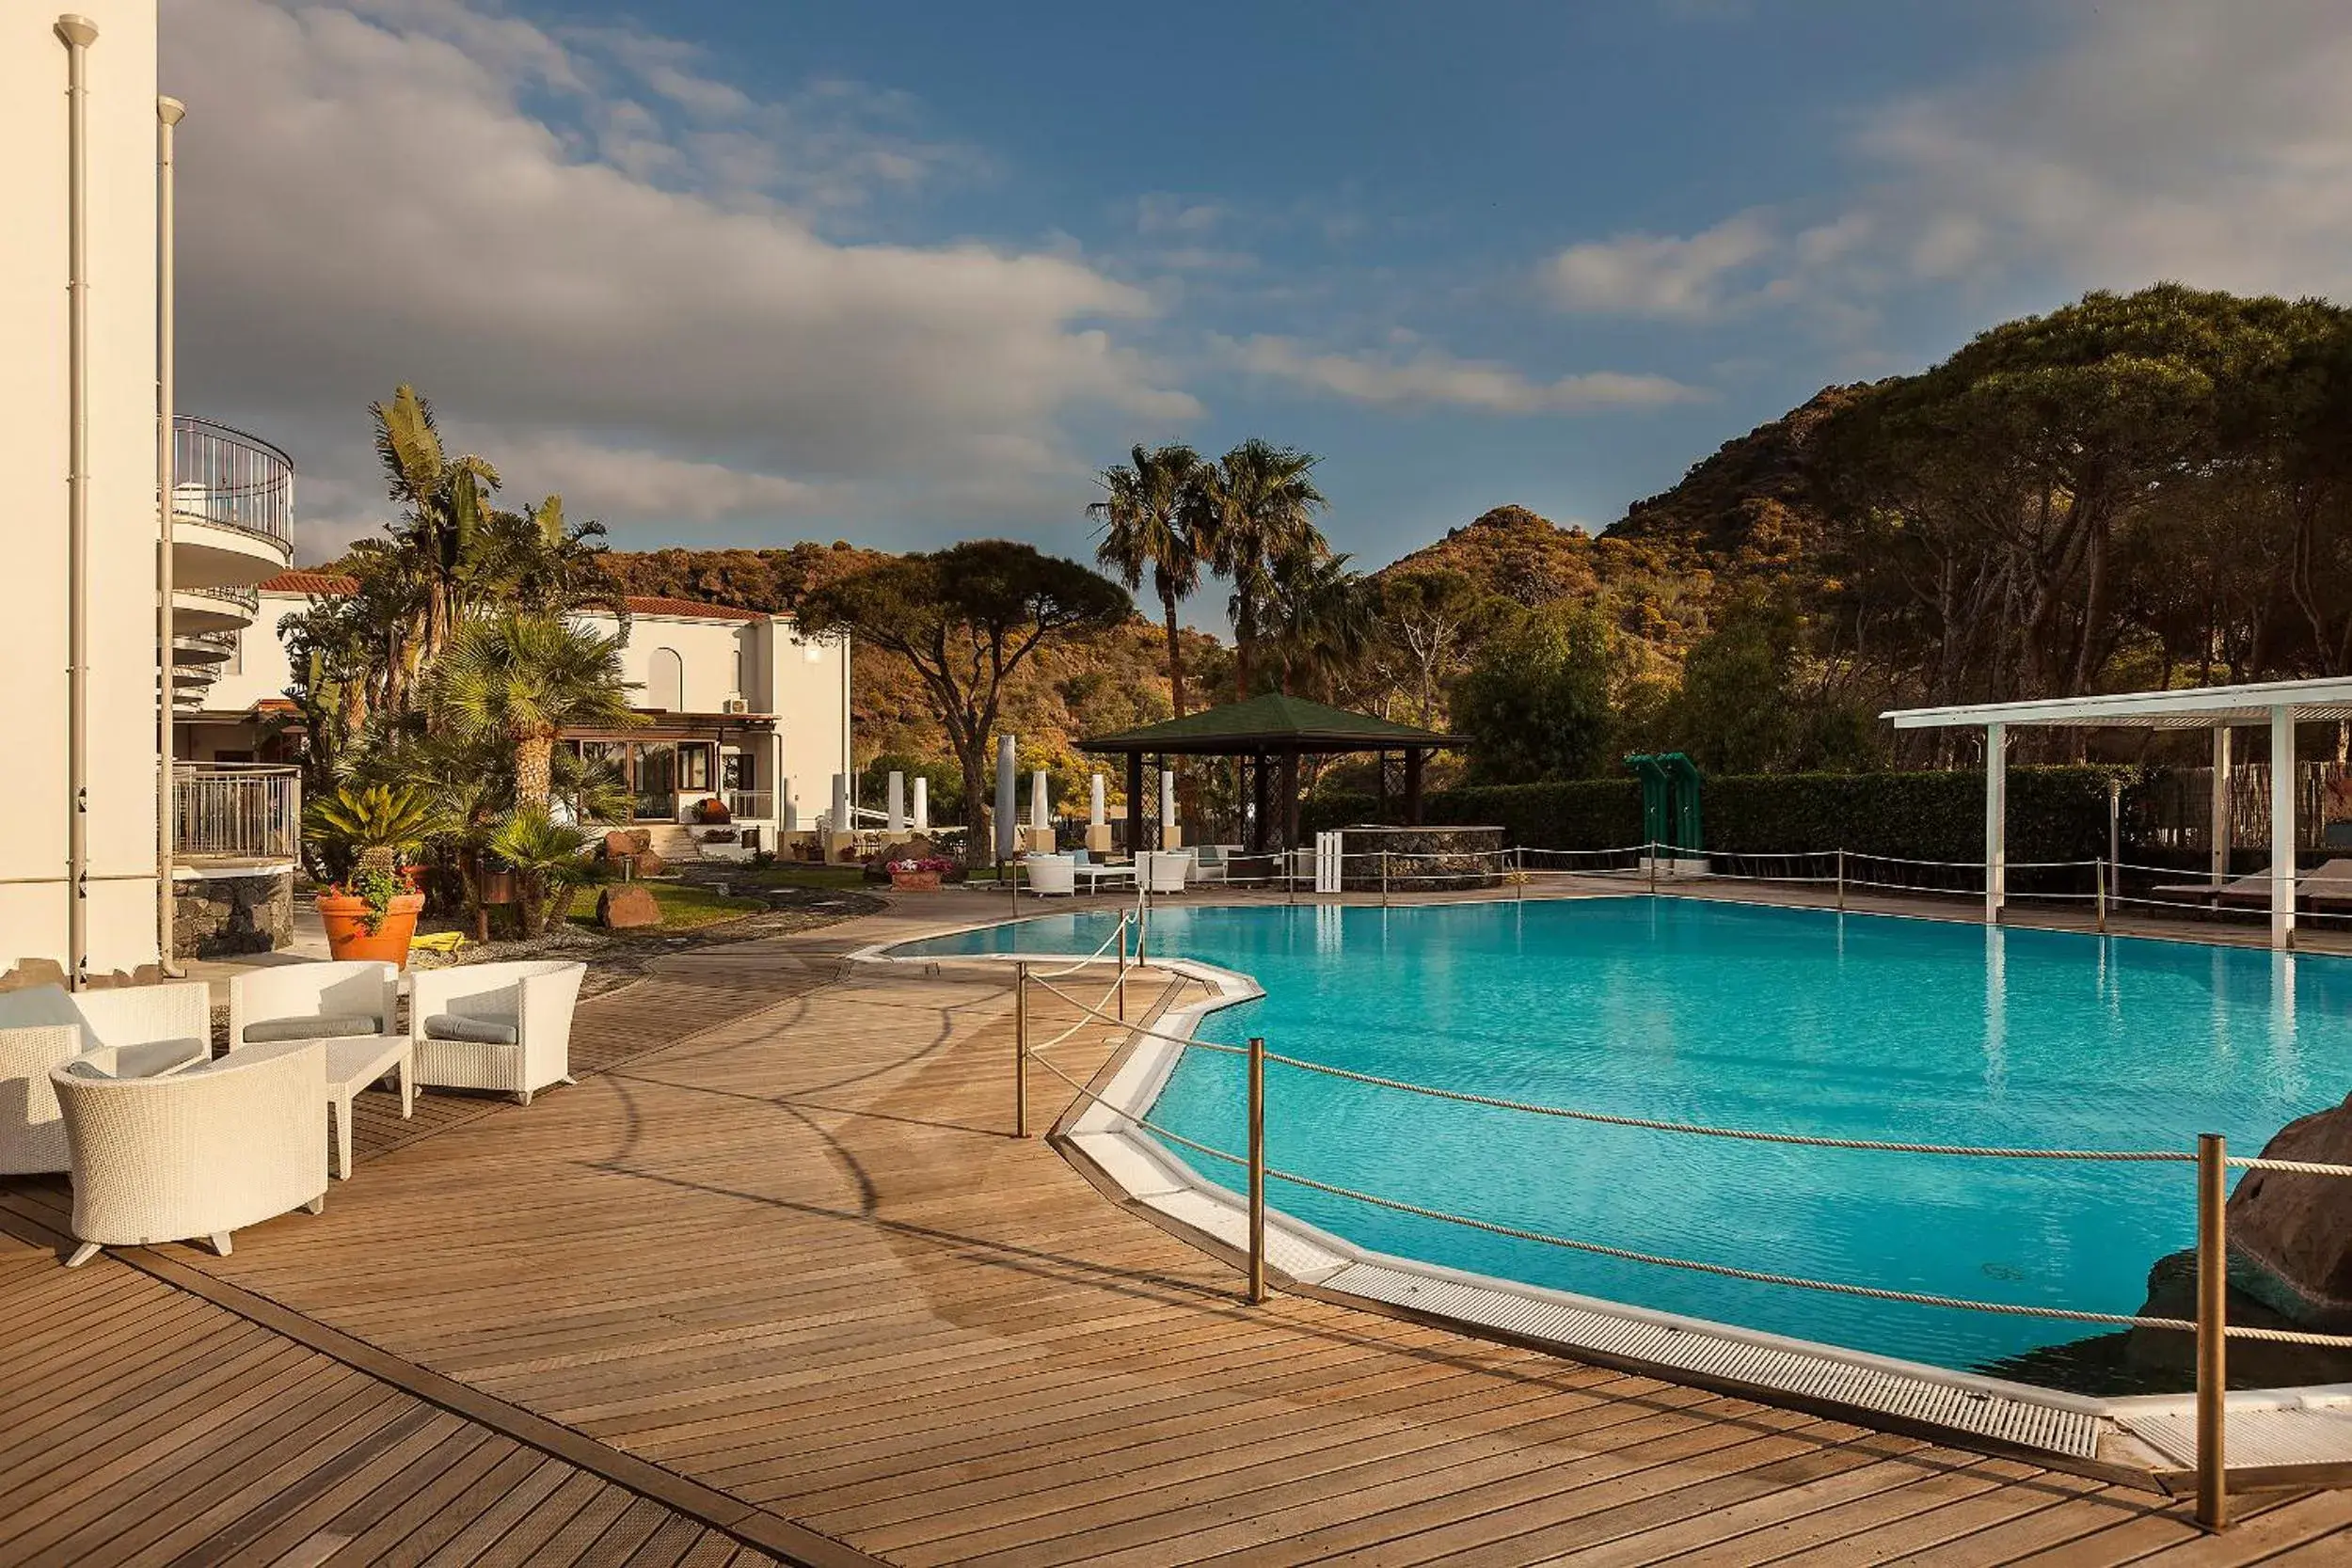
{"type": "MultiPolygon", "coordinates": [[[[188,658],[216,654],[216,632],[249,618],[252,585],[289,559],[292,465],[202,421],[174,442],[162,550],[167,120],[155,0],[89,0],[66,19],[0,0],[0,465],[14,590],[0,621],[14,701],[0,985],[158,961],[172,912],[158,898],[160,677],[176,689],[183,670],[160,656],[162,630],[188,658]]],[[[282,832],[275,846],[289,849],[282,832]]]]}

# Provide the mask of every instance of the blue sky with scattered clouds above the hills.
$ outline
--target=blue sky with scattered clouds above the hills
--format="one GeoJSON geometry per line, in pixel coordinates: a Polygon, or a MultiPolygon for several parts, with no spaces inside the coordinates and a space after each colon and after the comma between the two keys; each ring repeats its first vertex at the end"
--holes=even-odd
{"type": "Polygon", "coordinates": [[[2340,0],[162,0],[179,407],[306,562],[412,381],[628,550],[1087,555],[1263,435],[1376,567],[2086,289],[2352,299],[2347,80],[2340,0]]]}

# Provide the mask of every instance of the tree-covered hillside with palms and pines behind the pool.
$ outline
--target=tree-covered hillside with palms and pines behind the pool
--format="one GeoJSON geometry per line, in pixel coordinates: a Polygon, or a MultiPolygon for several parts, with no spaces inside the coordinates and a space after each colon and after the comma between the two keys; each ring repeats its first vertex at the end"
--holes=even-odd
{"type": "MultiPolygon", "coordinates": [[[[1195,590],[1230,590],[1249,654],[1181,632],[1188,705],[1247,679],[1451,724],[1494,778],[1630,748],[1717,771],[1940,762],[1891,755],[1872,715],[2352,668],[2352,313],[2326,301],[2089,294],[1915,376],[1825,388],[1602,534],[1496,505],[1371,574],[1327,543],[1343,517],[1312,520],[1310,470],[1249,442],[1103,473],[1101,564],[1138,616],[1007,689],[1035,762],[1174,710],[1164,623],[1195,590]],[[1482,733],[1534,712],[1581,715],[1581,741],[1482,733]]],[[[757,609],[873,559],[604,557],[628,592],[757,609]]],[[[861,755],[946,755],[913,672],[866,649],[856,682],[861,755]]]]}

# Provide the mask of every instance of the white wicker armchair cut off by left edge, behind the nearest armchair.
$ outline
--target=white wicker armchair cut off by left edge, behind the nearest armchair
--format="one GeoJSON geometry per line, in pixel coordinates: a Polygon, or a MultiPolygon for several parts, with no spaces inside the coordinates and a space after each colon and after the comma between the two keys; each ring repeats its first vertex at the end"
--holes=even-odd
{"type": "Polygon", "coordinates": [[[64,1171],[66,1124],[49,1070],[75,1056],[113,1077],[179,1072],[212,1056],[202,983],[68,994],[0,992],[0,1175],[64,1171]]]}

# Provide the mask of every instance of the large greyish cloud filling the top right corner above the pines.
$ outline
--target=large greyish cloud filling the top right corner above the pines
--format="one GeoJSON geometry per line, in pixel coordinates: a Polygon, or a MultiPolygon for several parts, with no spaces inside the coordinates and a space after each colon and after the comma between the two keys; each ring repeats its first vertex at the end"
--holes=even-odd
{"type": "Polygon", "coordinates": [[[2352,9],[2133,0],[2027,71],[1900,99],[1856,148],[1919,280],[2352,292],[2352,9]]]}

